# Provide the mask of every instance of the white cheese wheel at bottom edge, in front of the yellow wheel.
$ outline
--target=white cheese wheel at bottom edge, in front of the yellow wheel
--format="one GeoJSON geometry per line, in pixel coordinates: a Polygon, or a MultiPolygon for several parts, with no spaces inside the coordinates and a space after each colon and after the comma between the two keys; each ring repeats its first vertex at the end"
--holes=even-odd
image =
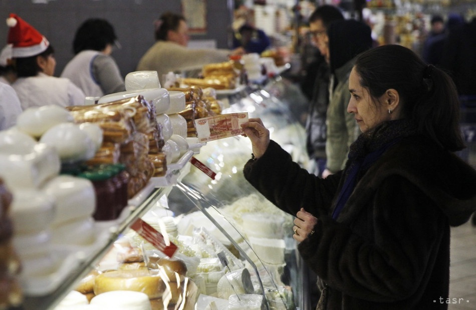
{"type": "Polygon", "coordinates": [[[91,305],[114,310],[151,310],[147,294],[131,290],[114,290],[94,296],[91,305]]]}

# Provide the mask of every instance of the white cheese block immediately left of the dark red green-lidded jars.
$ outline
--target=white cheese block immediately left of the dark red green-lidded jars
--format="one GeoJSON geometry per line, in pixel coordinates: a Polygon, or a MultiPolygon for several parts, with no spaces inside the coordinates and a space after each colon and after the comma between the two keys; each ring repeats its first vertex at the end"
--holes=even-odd
{"type": "Polygon", "coordinates": [[[96,208],[96,194],[90,180],[72,175],[58,175],[47,181],[42,190],[56,201],[53,225],[90,217],[96,208]]]}

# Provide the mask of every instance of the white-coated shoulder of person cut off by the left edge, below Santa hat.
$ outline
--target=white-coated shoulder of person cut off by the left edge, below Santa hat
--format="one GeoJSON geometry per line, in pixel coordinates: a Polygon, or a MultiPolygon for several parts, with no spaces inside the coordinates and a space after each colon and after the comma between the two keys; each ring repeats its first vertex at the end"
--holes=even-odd
{"type": "Polygon", "coordinates": [[[0,82],[0,130],[9,129],[17,124],[22,106],[15,90],[0,82]]]}

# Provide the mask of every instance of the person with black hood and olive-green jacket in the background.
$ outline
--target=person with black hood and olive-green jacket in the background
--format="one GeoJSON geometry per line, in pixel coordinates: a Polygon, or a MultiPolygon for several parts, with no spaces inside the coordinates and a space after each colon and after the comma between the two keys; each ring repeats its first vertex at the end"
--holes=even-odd
{"type": "Polygon", "coordinates": [[[350,145],[358,135],[354,116],[347,112],[349,76],[357,55],[372,47],[370,27],[355,20],[334,22],[329,36],[330,101],[326,114],[326,168],[322,177],[344,168],[350,145]]]}

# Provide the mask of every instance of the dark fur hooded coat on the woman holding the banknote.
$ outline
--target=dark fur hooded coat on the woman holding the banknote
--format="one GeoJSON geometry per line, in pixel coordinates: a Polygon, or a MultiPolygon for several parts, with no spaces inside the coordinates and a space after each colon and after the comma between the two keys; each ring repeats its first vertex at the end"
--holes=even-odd
{"type": "Polygon", "coordinates": [[[401,139],[359,179],[337,220],[343,172],[309,174],[277,143],[245,178],[280,209],[314,214],[298,249],[322,279],[327,309],[446,309],[450,225],[476,209],[476,171],[420,136],[401,139]]]}

